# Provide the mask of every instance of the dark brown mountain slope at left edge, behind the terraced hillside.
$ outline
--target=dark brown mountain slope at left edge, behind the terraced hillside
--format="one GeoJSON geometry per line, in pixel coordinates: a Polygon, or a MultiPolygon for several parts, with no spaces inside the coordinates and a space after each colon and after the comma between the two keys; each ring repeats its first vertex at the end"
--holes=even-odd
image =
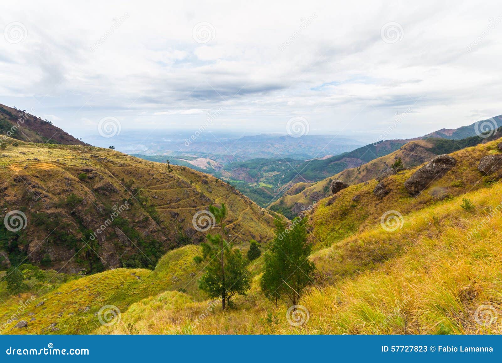
{"type": "Polygon", "coordinates": [[[0,141],[5,141],[7,137],[32,143],[87,145],[52,125],[49,120],[0,104],[0,141]]]}

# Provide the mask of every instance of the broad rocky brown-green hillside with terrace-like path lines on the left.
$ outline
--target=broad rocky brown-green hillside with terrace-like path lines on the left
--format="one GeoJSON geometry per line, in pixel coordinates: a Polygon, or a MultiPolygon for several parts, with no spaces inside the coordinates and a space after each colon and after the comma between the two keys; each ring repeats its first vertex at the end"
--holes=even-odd
{"type": "MultiPolygon", "coordinates": [[[[0,156],[3,266],[64,272],[154,268],[168,249],[204,239],[210,204],[228,208],[227,239],[271,237],[273,216],[226,183],[108,149],[7,139],[0,156]],[[195,217],[194,215],[199,212],[195,217]],[[16,220],[16,216],[21,216],[16,220]],[[206,219],[204,219],[207,217],[206,219]]],[[[208,231],[211,229],[208,228],[208,231]]]]}

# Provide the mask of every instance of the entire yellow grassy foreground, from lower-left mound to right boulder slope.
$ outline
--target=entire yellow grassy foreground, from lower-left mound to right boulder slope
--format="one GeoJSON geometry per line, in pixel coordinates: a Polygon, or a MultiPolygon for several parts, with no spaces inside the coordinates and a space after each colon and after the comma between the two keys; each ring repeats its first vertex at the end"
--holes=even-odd
{"type": "Polygon", "coordinates": [[[15,318],[2,333],[500,333],[501,141],[450,154],[416,195],[405,181],[424,165],[383,179],[385,195],[372,180],[320,200],[308,215],[317,274],[299,302],[301,324],[259,289],[263,257],[249,266],[248,294],[222,311],[196,289],[200,250],[185,246],[154,272],[116,269],[22,295],[30,303],[19,313],[10,297],[0,316],[15,318]]]}

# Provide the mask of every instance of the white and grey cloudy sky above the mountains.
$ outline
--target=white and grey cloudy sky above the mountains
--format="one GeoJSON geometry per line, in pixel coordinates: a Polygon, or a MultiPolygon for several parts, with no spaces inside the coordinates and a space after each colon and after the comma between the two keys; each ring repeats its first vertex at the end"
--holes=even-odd
{"type": "Polygon", "coordinates": [[[4,2],[0,103],[84,140],[103,117],[399,138],[502,113],[499,1],[375,3],[4,2]]]}

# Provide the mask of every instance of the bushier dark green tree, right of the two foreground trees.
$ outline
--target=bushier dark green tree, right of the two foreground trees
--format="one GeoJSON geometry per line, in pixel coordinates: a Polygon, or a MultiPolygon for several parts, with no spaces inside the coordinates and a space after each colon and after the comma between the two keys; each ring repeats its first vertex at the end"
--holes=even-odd
{"type": "Polygon", "coordinates": [[[309,260],[312,246],[307,242],[306,219],[295,218],[291,226],[276,219],[276,236],[265,255],[261,288],[271,300],[283,297],[296,305],[302,291],[312,284],[315,265],[309,260]]]}

